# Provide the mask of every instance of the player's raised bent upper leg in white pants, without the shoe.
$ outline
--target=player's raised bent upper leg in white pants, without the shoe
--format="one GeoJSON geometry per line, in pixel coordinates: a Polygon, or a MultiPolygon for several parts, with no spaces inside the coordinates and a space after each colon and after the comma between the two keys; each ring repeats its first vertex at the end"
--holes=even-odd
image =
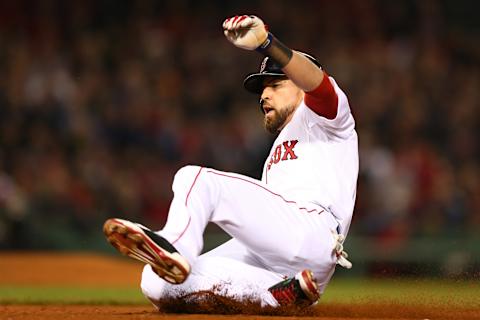
{"type": "Polygon", "coordinates": [[[322,208],[286,199],[246,176],[187,166],[173,183],[174,199],[159,234],[190,263],[214,222],[270,270],[293,276],[304,268],[326,278],[335,265],[337,222],[322,208]]]}

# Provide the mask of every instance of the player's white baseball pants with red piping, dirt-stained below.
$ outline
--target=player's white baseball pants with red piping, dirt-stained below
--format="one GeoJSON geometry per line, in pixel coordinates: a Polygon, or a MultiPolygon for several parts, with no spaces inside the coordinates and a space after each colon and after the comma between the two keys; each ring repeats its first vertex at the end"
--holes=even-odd
{"type": "Polygon", "coordinates": [[[333,234],[338,223],[330,213],[295,202],[259,180],[197,166],[181,168],[172,189],[167,223],[158,233],[192,271],[183,284],[171,285],[145,266],[141,287],[153,303],[216,288],[234,298],[276,305],[267,289],[303,269],[313,271],[323,292],[337,262],[333,234]],[[208,222],[233,239],[199,256],[208,222]]]}

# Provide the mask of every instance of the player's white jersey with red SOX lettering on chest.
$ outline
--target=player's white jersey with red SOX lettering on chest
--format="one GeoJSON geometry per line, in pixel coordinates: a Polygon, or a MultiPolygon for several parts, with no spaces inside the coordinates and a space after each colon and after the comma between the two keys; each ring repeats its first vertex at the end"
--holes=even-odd
{"type": "Polygon", "coordinates": [[[333,120],[317,115],[302,101],[273,143],[262,181],[299,202],[331,212],[346,234],[352,219],[358,175],[358,139],[347,97],[338,96],[333,120]]]}

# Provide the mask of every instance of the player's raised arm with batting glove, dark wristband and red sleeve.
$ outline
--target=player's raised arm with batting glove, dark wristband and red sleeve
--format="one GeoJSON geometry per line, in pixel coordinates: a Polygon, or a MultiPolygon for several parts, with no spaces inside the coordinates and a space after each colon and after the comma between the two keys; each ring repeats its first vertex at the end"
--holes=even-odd
{"type": "Polygon", "coordinates": [[[305,104],[328,119],[337,115],[338,97],[326,73],[304,55],[295,52],[267,31],[256,16],[226,19],[223,29],[235,46],[255,50],[277,61],[287,77],[305,91],[305,104]]]}

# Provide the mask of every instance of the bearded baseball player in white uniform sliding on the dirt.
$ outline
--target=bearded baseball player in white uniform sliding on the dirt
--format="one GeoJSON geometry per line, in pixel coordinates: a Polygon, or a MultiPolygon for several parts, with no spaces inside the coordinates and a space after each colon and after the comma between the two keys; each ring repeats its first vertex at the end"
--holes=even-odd
{"type": "Polygon", "coordinates": [[[347,97],[312,56],[280,42],[256,16],[223,23],[234,46],[264,56],[244,87],[259,95],[276,140],[262,180],[200,166],[175,175],[165,227],[109,219],[121,253],[146,263],[141,288],[154,305],[214,290],[263,305],[312,305],[343,251],[356,195],[358,146],[347,97]],[[233,238],[200,255],[213,222],[233,238]]]}

